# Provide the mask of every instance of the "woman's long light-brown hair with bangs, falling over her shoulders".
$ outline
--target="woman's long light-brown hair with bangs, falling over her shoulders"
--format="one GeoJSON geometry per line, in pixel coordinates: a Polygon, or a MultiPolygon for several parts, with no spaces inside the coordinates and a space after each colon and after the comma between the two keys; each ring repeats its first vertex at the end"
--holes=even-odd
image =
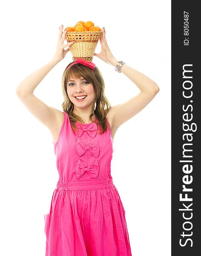
{"type": "MultiPolygon", "coordinates": [[[[73,62],[69,63],[68,66],[72,63],[73,62]]],[[[92,120],[92,116],[95,115],[98,121],[96,122],[94,120],[94,122],[98,125],[100,133],[105,132],[109,126],[109,122],[106,120],[106,115],[109,111],[109,108],[111,108],[111,105],[105,96],[105,83],[100,70],[98,67],[95,67],[95,70],[92,70],[90,67],[80,63],[72,65],[67,70],[68,66],[65,68],[62,76],[62,92],[64,101],[61,106],[63,111],[68,114],[73,130],[77,132],[77,126],[75,125],[75,122],[83,123],[83,120],[80,116],[73,113],[74,104],[69,99],[67,93],[67,81],[72,78],[80,79],[83,77],[93,85],[96,95],[93,106],[93,113],[90,114],[90,119],[92,120]]]]}

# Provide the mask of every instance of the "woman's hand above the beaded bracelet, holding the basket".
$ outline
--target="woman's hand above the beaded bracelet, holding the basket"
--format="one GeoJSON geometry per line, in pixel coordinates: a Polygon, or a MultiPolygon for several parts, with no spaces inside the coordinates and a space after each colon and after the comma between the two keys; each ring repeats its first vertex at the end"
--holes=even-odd
{"type": "Polygon", "coordinates": [[[109,49],[109,46],[107,44],[106,38],[105,38],[105,28],[102,29],[103,33],[100,37],[100,45],[101,45],[101,51],[100,53],[95,53],[94,55],[100,58],[102,61],[105,61],[106,63],[112,63],[112,61],[115,59],[115,57],[112,55],[112,52],[109,49]]]}

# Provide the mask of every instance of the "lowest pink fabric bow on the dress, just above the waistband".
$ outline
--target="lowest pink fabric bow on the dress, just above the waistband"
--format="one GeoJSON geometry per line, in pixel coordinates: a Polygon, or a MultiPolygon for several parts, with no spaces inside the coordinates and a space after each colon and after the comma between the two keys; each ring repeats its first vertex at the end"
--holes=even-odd
{"type": "Polygon", "coordinates": [[[92,179],[95,179],[98,177],[99,172],[98,161],[96,160],[90,166],[84,166],[79,159],[75,166],[75,172],[78,179],[80,179],[85,174],[85,172],[88,172],[92,179]]]}

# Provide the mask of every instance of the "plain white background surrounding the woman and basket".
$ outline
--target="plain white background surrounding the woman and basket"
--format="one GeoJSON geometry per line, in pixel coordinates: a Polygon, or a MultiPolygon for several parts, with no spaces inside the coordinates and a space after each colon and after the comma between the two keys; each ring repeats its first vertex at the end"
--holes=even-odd
{"type": "MultiPolygon", "coordinates": [[[[111,175],[126,210],[133,256],[169,256],[171,248],[171,2],[7,1],[0,6],[0,233],[3,256],[45,255],[44,214],[58,172],[52,135],[17,98],[17,85],[54,56],[59,26],[92,20],[104,26],[118,60],[155,81],[160,91],[115,134],[111,175]]],[[[100,42],[96,52],[100,51],[100,42]]],[[[63,111],[61,76],[70,52],[34,94],[63,111]]],[[[139,89],[94,57],[111,105],[139,89]]]]}

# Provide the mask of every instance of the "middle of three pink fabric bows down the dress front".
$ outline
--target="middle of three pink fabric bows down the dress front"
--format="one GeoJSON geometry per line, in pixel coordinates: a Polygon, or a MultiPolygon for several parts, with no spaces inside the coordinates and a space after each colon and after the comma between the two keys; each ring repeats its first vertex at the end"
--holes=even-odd
{"type": "Polygon", "coordinates": [[[79,156],[83,155],[86,152],[87,149],[96,158],[99,155],[99,145],[98,145],[98,142],[97,142],[96,139],[92,140],[92,142],[89,143],[89,145],[87,146],[83,142],[83,140],[80,140],[80,138],[78,138],[78,140],[76,141],[76,148],[77,148],[79,156]]]}

